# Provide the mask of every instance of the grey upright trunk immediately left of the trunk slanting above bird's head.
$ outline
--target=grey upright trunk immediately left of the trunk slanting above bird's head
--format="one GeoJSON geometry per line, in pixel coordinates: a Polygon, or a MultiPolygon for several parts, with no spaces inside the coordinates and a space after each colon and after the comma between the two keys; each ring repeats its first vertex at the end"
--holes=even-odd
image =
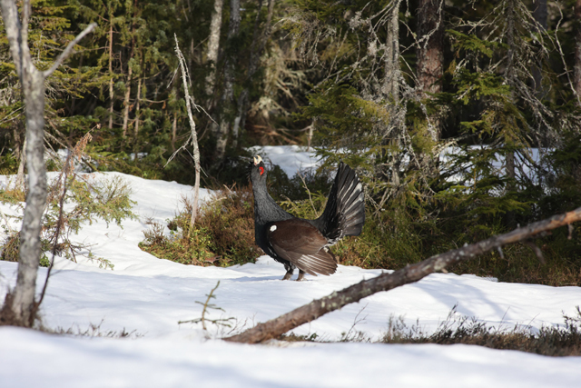
{"type": "Polygon", "coordinates": [[[233,115],[234,59],[236,57],[234,54],[237,50],[231,43],[238,36],[240,30],[240,0],[231,0],[230,7],[230,25],[228,26],[228,48],[230,52],[226,54],[224,65],[224,91],[221,99],[222,111],[216,133],[216,149],[214,151],[214,159],[216,161],[222,161],[224,154],[226,154],[226,144],[228,142],[228,135],[230,134],[230,120],[233,115]]]}

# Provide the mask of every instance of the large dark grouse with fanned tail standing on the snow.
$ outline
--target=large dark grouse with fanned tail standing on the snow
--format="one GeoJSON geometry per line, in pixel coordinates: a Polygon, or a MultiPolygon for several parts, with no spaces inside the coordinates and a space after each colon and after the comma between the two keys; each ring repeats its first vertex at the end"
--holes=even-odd
{"type": "Polygon", "coordinates": [[[295,268],[304,274],[334,274],[337,263],[328,247],[343,236],[359,235],[365,223],[365,203],[359,177],[347,164],[340,164],[323,214],[305,220],[285,212],[268,194],[266,170],[261,157],[251,162],[256,244],[284,264],[290,279],[295,268]]]}

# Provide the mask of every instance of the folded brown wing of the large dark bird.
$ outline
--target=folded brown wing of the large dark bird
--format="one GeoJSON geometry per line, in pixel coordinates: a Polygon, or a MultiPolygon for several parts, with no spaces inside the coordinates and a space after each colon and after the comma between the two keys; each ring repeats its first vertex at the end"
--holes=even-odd
{"type": "Polygon", "coordinates": [[[325,251],[327,239],[319,229],[298,218],[267,225],[267,239],[276,254],[307,274],[334,274],[337,263],[325,251]]]}

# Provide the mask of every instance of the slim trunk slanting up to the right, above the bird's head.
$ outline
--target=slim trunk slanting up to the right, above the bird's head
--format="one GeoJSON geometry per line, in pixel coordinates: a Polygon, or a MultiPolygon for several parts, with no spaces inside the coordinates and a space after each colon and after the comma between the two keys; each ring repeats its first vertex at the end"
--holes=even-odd
{"type": "Polygon", "coordinates": [[[241,92],[241,95],[238,97],[238,114],[234,119],[234,126],[232,129],[232,146],[236,147],[238,145],[238,135],[240,129],[243,130],[244,126],[246,125],[246,114],[248,111],[248,103],[249,103],[249,83],[252,81],[252,77],[256,74],[258,70],[258,64],[261,59],[262,52],[264,51],[264,47],[268,42],[269,38],[271,37],[271,23],[272,23],[272,15],[274,14],[274,0],[269,0],[268,3],[268,12],[266,15],[266,22],[264,24],[264,28],[262,29],[262,34],[258,36],[258,27],[261,15],[261,8],[262,8],[262,0],[259,0],[259,8],[256,15],[256,20],[254,22],[254,33],[251,45],[251,58],[250,63],[248,65],[248,75],[246,75],[246,81],[244,85],[244,89],[241,92]],[[258,48],[257,48],[258,44],[258,48]]]}

